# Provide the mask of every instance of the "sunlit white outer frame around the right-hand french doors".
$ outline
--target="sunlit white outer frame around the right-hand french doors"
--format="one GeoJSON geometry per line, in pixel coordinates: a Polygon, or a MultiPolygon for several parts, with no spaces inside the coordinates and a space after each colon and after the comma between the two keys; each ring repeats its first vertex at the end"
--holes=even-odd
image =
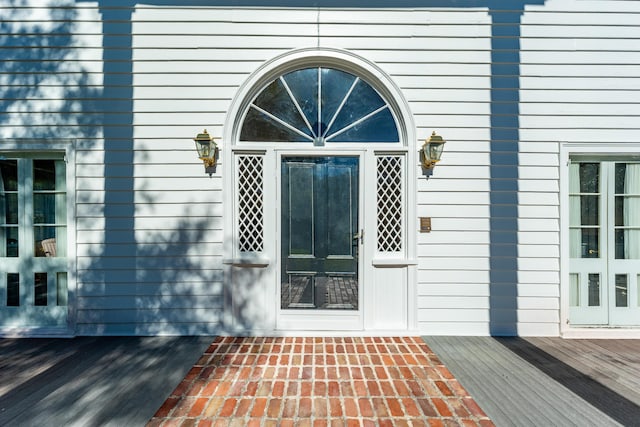
{"type": "Polygon", "coordinates": [[[640,328],[572,326],[569,323],[569,162],[572,157],[594,161],[640,160],[640,142],[560,144],[560,334],[565,338],[640,338],[640,328]]]}

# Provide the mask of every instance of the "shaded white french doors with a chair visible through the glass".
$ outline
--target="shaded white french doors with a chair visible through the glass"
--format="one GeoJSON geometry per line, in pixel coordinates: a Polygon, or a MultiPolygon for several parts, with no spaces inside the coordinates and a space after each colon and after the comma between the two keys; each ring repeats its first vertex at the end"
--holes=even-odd
{"type": "Polygon", "coordinates": [[[0,329],[67,324],[66,164],[53,157],[0,160],[0,329]]]}

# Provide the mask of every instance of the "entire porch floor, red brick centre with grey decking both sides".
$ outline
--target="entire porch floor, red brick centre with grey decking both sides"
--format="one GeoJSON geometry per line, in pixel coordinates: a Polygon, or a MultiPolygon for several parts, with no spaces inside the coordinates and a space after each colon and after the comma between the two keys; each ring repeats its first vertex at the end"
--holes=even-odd
{"type": "Polygon", "coordinates": [[[0,339],[0,425],[639,425],[640,340],[424,340],[0,339]]]}

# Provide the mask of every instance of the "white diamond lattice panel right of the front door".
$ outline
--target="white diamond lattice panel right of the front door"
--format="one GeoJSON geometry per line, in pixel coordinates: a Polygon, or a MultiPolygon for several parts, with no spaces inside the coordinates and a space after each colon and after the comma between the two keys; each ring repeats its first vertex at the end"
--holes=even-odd
{"type": "Polygon", "coordinates": [[[377,159],[378,251],[402,251],[402,157],[377,159]]]}

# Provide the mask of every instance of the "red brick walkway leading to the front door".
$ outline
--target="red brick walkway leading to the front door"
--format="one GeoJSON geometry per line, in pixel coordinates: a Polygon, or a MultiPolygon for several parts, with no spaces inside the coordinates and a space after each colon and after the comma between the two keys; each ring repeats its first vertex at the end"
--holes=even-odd
{"type": "Polygon", "coordinates": [[[419,337],[217,338],[148,426],[493,426],[419,337]]]}

